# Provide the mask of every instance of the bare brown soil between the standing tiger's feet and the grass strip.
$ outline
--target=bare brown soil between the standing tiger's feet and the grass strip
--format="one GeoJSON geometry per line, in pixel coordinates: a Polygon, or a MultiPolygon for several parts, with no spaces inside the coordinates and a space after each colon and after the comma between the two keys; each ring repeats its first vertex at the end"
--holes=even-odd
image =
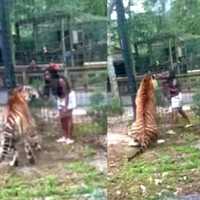
{"type": "MultiPolygon", "coordinates": [[[[20,156],[16,173],[27,175],[29,178],[55,174],[62,179],[70,175],[65,166],[74,161],[91,163],[91,166],[96,167],[98,171],[106,172],[105,136],[80,137],[74,133],[74,144],[67,145],[56,142],[62,135],[60,124],[57,121],[45,122],[38,118],[36,124],[37,132],[41,136],[42,149],[34,152],[36,163],[30,165],[24,153],[23,143],[20,142],[17,145],[20,156]]],[[[7,167],[2,166],[3,168],[7,167]]]]}

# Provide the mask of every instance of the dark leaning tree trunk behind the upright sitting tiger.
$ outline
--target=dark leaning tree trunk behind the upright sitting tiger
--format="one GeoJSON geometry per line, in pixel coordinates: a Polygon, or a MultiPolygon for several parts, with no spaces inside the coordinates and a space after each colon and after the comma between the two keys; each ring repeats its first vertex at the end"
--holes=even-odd
{"type": "Polygon", "coordinates": [[[117,11],[117,22],[118,22],[118,33],[120,38],[120,45],[122,54],[124,57],[126,73],[128,76],[128,87],[131,93],[132,107],[135,120],[135,96],[136,96],[136,80],[135,80],[135,67],[132,60],[130,42],[128,40],[127,23],[125,19],[125,11],[122,0],[116,0],[116,11],[117,11]]]}

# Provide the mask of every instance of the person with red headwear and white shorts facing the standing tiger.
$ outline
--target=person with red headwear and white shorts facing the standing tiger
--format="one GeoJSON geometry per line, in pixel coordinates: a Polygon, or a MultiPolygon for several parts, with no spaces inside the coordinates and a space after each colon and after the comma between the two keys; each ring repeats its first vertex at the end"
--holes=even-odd
{"type": "Polygon", "coordinates": [[[50,64],[44,73],[44,93],[56,102],[56,115],[61,122],[63,136],[57,142],[72,144],[73,110],[76,107],[76,95],[66,77],[59,74],[59,67],[50,64]]]}

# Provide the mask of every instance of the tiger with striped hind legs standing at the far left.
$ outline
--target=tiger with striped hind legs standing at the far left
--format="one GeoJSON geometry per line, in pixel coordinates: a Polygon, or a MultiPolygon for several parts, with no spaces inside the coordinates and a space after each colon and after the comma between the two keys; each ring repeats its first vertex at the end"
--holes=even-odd
{"type": "MultiPolygon", "coordinates": [[[[40,150],[35,140],[35,122],[28,107],[30,94],[26,87],[18,86],[11,90],[4,110],[4,124],[0,133],[0,162],[9,161],[10,166],[18,165],[19,153],[16,149],[18,138],[23,138],[26,157],[31,164],[35,163],[33,146],[40,150]]],[[[37,140],[37,139],[36,139],[37,140]]]]}

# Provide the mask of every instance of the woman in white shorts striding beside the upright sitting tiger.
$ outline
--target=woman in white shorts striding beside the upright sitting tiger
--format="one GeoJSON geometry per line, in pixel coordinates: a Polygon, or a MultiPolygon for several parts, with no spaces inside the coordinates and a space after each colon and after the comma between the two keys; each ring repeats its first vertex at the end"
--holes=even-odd
{"type": "Polygon", "coordinates": [[[182,93],[179,82],[176,79],[174,71],[170,71],[169,77],[167,79],[168,92],[171,101],[172,108],[172,120],[173,123],[176,122],[177,114],[179,113],[186,121],[186,128],[192,126],[187,114],[182,109],[182,93]]]}

